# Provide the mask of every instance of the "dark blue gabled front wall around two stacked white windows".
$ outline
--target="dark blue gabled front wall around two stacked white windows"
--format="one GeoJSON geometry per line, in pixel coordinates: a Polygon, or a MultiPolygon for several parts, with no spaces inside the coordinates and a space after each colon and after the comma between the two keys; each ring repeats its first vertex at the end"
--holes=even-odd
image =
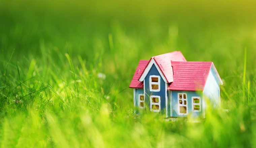
{"type": "Polygon", "coordinates": [[[146,78],[145,78],[145,101],[148,104],[148,106],[150,107],[150,96],[155,95],[155,96],[160,96],[161,97],[161,113],[165,114],[166,110],[165,110],[165,92],[167,91],[165,89],[165,82],[163,80],[163,78],[161,77],[160,73],[158,72],[155,64],[152,65],[151,69],[149,70],[149,73],[147,74],[146,78]],[[149,89],[149,77],[151,75],[157,75],[160,76],[160,91],[159,92],[153,92],[150,91],[149,89]]]}

